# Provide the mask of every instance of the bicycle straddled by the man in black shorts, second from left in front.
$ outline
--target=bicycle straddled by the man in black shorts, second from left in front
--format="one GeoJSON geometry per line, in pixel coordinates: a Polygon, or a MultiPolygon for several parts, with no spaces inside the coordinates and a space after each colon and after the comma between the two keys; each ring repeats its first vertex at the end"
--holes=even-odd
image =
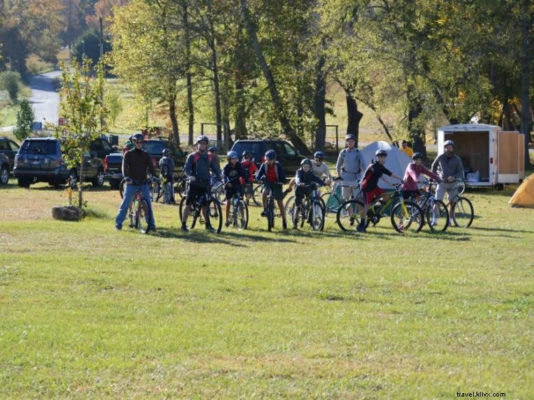
{"type": "MultiPolygon", "coordinates": [[[[188,181],[187,186],[189,185],[190,182],[188,181]]],[[[180,200],[180,222],[183,222],[183,209],[186,208],[187,198],[188,196],[186,195],[180,200]]],[[[223,228],[223,211],[220,208],[220,203],[212,196],[210,189],[191,202],[191,212],[188,216],[188,221],[186,221],[186,225],[190,222],[190,228],[194,228],[197,220],[199,224],[205,224],[207,229],[215,233],[219,233],[221,228],[223,228]],[[204,213],[202,212],[203,209],[204,213]]]]}

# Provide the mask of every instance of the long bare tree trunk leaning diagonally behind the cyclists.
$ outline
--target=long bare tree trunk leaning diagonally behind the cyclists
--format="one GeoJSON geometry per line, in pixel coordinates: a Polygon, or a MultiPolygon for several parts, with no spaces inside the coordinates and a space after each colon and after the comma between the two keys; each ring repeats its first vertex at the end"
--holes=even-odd
{"type": "Polygon", "coordinates": [[[270,92],[270,97],[271,97],[273,105],[275,106],[275,110],[278,113],[278,116],[279,116],[278,118],[282,126],[283,133],[287,137],[289,137],[292,144],[294,144],[296,150],[298,150],[304,155],[309,155],[310,153],[309,153],[308,148],[306,147],[306,144],[303,142],[303,140],[300,137],[298,137],[298,135],[296,135],[295,131],[292,129],[292,126],[290,124],[290,121],[288,120],[288,117],[285,115],[283,103],[278,93],[275,78],[272,76],[272,73],[270,72],[270,68],[267,65],[267,62],[265,60],[262,48],[259,46],[259,41],[258,41],[257,33],[256,33],[256,27],[251,21],[251,17],[249,15],[249,9],[248,9],[246,0],[240,0],[240,1],[241,1],[241,12],[242,12],[243,19],[245,21],[246,31],[249,33],[249,38],[252,42],[254,53],[259,62],[259,66],[262,67],[262,71],[264,72],[264,77],[267,81],[267,85],[268,85],[269,92],[270,92]]]}

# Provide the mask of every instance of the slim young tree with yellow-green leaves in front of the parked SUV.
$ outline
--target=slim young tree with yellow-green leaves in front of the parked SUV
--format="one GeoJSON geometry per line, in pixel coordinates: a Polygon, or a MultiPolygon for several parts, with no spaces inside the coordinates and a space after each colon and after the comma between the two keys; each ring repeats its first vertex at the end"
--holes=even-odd
{"type": "Polygon", "coordinates": [[[68,168],[78,169],[78,207],[81,209],[84,190],[84,153],[90,144],[102,133],[100,117],[105,113],[101,103],[104,86],[103,62],[94,69],[91,77],[91,63],[84,58],[81,64],[75,60],[69,69],[62,68],[62,88],[60,91],[61,116],[66,124],[55,126],[55,135],[62,141],[63,159],[68,168]]]}

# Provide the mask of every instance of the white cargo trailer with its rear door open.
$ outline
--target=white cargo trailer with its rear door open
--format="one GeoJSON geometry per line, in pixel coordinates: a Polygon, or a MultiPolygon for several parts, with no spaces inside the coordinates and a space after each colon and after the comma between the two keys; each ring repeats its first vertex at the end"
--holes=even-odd
{"type": "Polygon", "coordinates": [[[456,124],[437,129],[437,155],[446,140],[455,142],[468,186],[497,186],[518,183],[524,178],[524,135],[505,132],[499,126],[456,124]]]}

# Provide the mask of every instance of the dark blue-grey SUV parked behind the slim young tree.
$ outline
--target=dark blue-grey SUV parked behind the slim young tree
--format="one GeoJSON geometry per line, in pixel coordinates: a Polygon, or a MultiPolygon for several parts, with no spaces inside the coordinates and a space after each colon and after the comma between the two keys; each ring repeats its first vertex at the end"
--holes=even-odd
{"type": "MultiPolygon", "coordinates": [[[[31,183],[47,182],[62,185],[67,178],[78,179],[79,168],[67,168],[64,163],[60,139],[55,137],[28,137],[15,156],[14,176],[18,186],[29,187],[31,183]]],[[[84,153],[84,181],[95,186],[104,182],[104,166],[96,152],[84,153]]]]}

